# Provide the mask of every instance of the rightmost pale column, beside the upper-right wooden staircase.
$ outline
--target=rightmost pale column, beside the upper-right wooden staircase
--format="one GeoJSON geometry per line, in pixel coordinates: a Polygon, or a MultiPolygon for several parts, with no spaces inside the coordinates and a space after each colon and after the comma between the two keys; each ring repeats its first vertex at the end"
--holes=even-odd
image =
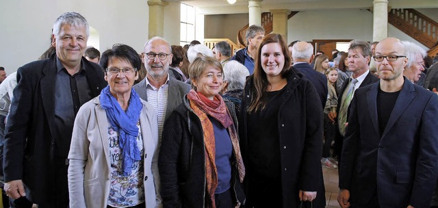
{"type": "Polygon", "coordinates": [[[372,41],[381,41],[388,37],[388,1],[374,0],[373,2],[372,41]]]}

